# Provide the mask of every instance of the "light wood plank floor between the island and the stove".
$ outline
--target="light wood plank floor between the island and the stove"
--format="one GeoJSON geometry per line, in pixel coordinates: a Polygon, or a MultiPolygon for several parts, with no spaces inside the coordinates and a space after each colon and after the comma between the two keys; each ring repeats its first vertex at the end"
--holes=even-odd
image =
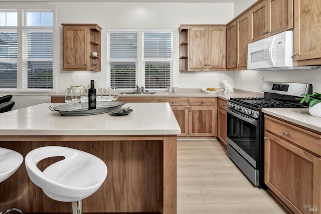
{"type": "Polygon", "coordinates": [[[288,213],[253,186],[217,140],[179,139],[177,213],[288,213]]]}

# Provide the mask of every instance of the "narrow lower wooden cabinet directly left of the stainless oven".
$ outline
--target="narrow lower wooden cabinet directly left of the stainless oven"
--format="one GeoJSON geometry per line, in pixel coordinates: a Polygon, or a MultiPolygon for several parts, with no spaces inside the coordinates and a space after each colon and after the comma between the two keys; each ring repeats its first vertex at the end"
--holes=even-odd
{"type": "Polygon", "coordinates": [[[218,99],[217,110],[217,137],[227,146],[227,101],[218,99]]]}

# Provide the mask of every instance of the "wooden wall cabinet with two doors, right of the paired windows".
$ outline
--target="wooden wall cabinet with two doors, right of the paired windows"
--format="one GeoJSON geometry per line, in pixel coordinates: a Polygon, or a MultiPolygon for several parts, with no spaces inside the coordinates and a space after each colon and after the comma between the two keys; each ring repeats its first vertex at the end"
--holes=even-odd
{"type": "Polygon", "coordinates": [[[226,26],[181,25],[179,30],[180,71],[226,68],[226,26]]]}

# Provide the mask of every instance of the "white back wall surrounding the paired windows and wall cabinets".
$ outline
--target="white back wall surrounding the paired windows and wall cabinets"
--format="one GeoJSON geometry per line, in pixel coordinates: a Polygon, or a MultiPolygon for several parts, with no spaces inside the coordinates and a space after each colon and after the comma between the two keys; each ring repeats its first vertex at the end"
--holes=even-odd
{"type": "MultiPolygon", "coordinates": [[[[234,17],[233,3],[104,3],[104,2],[2,2],[1,9],[52,7],[56,10],[56,53],[57,92],[64,92],[69,85],[87,85],[90,80],[102,77],[100,86],[107,85],[107,28],[173,29],[173,85],[180,88],[219,87],[218,79],[228,79],[233,84],[233,72],[179,72],[179,31],[180,24],[226,24],[234,17]],[[62,71],[62,26],[61,23],[97,23],[102,27],[101,72],[62,71]],[[76,81],[72,82],[71,77],[76,81]],[[179,81],[180,76],[187,81],[179,81]]],[[[141,35],[138,34],[138,36],[141,35]]],[[[140,37],[141,38],[141,37],[140,37]]],[[[138,45],[141,44],[141,39],[138,45]]],[[[141,56],[141,49],[138,50],[141,56]]],[[[141,69],[141,63],[138,64],[141,69]]],[[[138,85],[141,86],[141,80],[138,85]]],[[[6,94],[6,93],[1,93],[6,94]]],[[[21,94],[21,93],[20,93],[21,94]]],[[[15,108],[22,108],[41,102],[49,102],[47,95],[29,93],[15,96],[15,108]],[[38,96],[35,99],[35,96],[38,96]],[[23,97],[23,98],[22,98],[23,97]]]]}

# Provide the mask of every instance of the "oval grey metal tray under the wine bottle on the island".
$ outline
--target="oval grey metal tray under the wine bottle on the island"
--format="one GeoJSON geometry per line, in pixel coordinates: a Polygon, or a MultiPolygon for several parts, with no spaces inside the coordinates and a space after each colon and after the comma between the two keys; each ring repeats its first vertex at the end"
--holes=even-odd
{"type": "Polygon", "coordinates": [[[77,103],[73,105],[64,104],[56,107],[49,106],[52,111],[58,111],[63,116],[82,116],[82,115],[93,115],[93,114],[103,114],[110,112],[113,109],[118,109],[123,106],[125,102],[120,101],[107,101],[107,102],[97,102],[96,109],[88,109],[88,103],[77,103]]]}

